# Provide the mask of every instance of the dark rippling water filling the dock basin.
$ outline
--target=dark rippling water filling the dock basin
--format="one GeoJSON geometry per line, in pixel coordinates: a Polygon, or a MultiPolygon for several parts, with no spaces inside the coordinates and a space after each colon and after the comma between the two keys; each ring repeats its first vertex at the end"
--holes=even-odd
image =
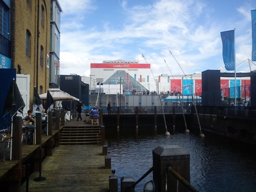
{"type": "MultiPolygon", "coordinates": [[[[112,169],[120,178],[131,176],[135,181],[152,166],[152,150],[159,145],[179,145],[190,153],[190,184],[198,191],[256,191],[255,148],[205,134],[148,133],[140,130],[107,130],[108,152],[112,169]]],[[[137,184],[135,191],[143,191],[152,173],[137,184]]]]}

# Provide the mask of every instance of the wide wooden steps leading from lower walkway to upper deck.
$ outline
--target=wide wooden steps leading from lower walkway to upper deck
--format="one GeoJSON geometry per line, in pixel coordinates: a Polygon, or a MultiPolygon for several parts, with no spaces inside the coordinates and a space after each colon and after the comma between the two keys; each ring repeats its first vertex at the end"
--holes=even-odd
{"type": "Polygon", "coordinates": [[[61,130],[61,145],[84,145],[101,143],[101,127],[63,127],[61,130]]]}

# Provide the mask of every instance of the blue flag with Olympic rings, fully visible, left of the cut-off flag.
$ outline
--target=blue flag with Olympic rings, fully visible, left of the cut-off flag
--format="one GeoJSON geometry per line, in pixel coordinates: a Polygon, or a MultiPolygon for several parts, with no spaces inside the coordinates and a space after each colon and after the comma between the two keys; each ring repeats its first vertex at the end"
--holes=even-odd
{"type": "Polygon", "coordinates": [[[221,32],[222,56],[226,70],[234,70],[234,30],[221,32]]]}

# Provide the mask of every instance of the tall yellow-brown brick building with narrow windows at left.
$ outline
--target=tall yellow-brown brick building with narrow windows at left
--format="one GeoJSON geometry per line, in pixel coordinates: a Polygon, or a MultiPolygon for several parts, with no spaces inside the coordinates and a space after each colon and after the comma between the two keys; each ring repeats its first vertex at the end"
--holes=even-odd
{"type": "MultiPolygon", "coordinates": [[[[49,29],[51,0],[11,1],[10,40],[11,68],[30,74],[30,90],[38,88],[39,93],[49,87],[49,29]]],[[[30,91],[33,98],[33,91],[30,91]]],[[[30,106],[31,106],[30,99],[30,106]]]]}

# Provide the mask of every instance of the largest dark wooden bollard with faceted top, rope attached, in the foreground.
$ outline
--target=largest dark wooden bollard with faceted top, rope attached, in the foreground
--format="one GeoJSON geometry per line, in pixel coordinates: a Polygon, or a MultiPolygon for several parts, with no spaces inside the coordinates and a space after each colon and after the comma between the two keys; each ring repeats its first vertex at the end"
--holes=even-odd
{"type": "Polygon", "coordinates": [[[158,146],[153,150],[153,180],[157,191],[189,191],[182,183],[178,182],[166,166],[171,166],[187,182],[190,182],[190,154],[178,145],[158,146]],[[167,178],[166,178],[167,176],[167,178]],[[167,180],[167,181],[166,181],[167,180]]]}

